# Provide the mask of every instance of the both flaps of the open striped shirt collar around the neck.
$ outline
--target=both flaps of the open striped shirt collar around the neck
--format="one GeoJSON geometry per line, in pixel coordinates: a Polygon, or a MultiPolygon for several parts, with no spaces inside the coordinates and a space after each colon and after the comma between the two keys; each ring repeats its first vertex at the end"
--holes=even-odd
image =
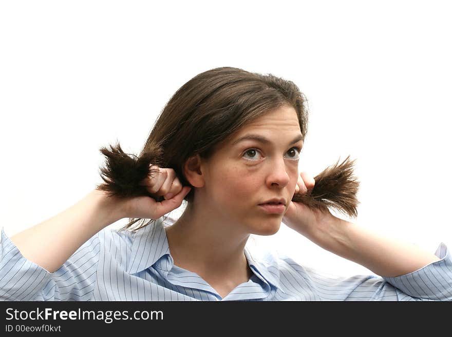
{"type": "MultiPolygon", "coordinates": [[[[129,274],[135,274],[153,266],[162,256],[170,254],[170,246],[166,237],[165,225],[172,225],[176,220],[172,217],[160,217],[155,224],[137,230],[132,237],[131,256],[127,268],[129,274]]],[[[248,264],[256,276],[264,282],[279,288],[279,268],[276,257],[267,253],[258,256],[250,247],[245,247],[244,254],[248,264]]]]}

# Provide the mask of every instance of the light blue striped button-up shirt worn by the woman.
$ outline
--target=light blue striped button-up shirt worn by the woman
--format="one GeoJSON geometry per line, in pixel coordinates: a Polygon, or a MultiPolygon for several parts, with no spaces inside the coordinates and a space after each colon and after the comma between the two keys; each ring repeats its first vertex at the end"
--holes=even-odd
{"type": "MultiPolygon", "coordinates": [[[[253,275],[221,296],[173,264],[161,217],[136,233],[105,228],[53,273],[25,259],[2,228],[0,299],[6,301],[451,301],[452,260],[440,243],[433,262],[397,276],[335,276],[290,257],[244,249],[253,275]]],[[[45,247],[43,247],[45,249],[45,247]]]]}

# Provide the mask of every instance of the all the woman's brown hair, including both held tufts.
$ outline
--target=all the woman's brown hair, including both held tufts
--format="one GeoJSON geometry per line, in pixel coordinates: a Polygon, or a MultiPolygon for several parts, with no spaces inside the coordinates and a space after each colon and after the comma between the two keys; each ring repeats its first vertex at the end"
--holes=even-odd
{"type": "MultiPolygon", "coordinates": [[[[119,143],[110,150],[100,149],[107,157],[101,177],[106,184],[96,188],[109,195],[130,197],[150,195],[138,185],[148,174],[149,163],[172,168],[182,186],[191,186],[183,174],[185,161],[196,154],[208,159],[213,151],[244,125],[270,110],[292,106],[305,139],[308,109],[305,95],[288,80],[272,74],[259,74],[233,67],[204,71],[180,87],[161,111],[154,128],[134,158],[124,153],[119,143]]],[[[355,194],[359,183],[352,178],[353,162],[348,157],[343,164],[328,168],[314,177],[315,186],[307,194],[295,194],[292,201],[322,209],[333,206],[350,216],[356,216],[355,194]]],[[[192,186],[193,187],[193,186],[192,186]]],[[[185,196],[190,204],[195,189],[185,196]]],[[[161,201],[163,196],[153,196],[161,201]]],[[[123,229],[138,230],[150,222],[131,228],[142,219],[129,219],[123,229]]]]}

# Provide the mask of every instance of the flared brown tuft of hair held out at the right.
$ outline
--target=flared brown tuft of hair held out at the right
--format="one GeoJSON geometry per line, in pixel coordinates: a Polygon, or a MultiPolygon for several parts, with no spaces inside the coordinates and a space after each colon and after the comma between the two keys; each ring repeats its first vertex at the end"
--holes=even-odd
{"type": "Polygon", "coordinates": [[[350,161],[350,156],[338,165],[327,167],[314,177],[314,188],[308,189],[305,194],[295,193],[293,202],[300,202],[312,209],[323,210],[332,207],[350,217],[356,217],[356,207],[360,203],[356,199],[356,193],[360,183],[353,176],[355,160],[350,161]]]}

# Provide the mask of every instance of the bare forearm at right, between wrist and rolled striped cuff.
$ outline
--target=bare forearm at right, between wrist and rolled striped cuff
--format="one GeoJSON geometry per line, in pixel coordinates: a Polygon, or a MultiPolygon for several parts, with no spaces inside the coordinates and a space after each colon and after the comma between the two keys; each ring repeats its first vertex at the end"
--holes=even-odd
{"type": "Polygon", "coordinates": [[[310,238],[322,248],[380,276],[400,276],[439,261],[435,254],[335,217],[310,238]]]}

